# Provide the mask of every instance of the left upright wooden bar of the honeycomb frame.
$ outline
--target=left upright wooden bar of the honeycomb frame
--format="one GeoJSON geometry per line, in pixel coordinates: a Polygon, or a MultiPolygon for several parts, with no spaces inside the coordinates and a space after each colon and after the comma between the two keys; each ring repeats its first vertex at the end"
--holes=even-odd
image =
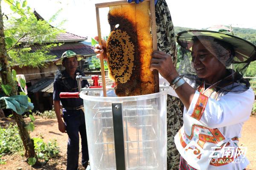
{"type": "MultiPolygon", "coordinates": [[[[98,37],[99,37],[99,45],[102,46],[102,37],[101,37],[101,30],[100,30],[100,20],[99,20],[99,8],[96,7],[96,19],[97,19],[97,28],[98,28],[98,37]]],[[[105,51],[106,52],[106,51],[105,51]]],[[[104,69],[104,57],[106,53],[103,53],[100,57],[100,69],[102,75],[102,88],[103,88],[103,96],[106,97],[106,81],[105,81],[105,69],[104,69]]]]}

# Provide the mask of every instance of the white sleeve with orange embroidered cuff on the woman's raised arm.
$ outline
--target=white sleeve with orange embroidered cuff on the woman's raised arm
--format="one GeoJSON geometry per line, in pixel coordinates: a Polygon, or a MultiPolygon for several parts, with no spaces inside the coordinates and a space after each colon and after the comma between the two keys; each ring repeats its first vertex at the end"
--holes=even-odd
{"type": "Polygon", "coordinates": [[[253,102],[254,93],[251,88],[239,94],[227,93],[218,101],[196,91],[186,114],[213,129],[249,119],[253,102]]]}

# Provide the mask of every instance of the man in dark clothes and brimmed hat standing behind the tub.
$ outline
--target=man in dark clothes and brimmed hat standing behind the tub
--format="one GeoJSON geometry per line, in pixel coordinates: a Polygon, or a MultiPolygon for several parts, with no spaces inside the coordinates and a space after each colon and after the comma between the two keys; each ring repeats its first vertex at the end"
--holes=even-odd
{"type": "MultiPolygon", "coordinates": [[[[82,165],[84,168],[88,165],[89,155],[87,146],[86,127],[83,111],[83,100],[81,98],[60,99],[61,92],[78,92],[76,73],[84,76],[77,70],[78,61],[83,59],[83,55],[78,55],[73,51],[66,51],[61,58],[55,61],[56,65],[63,65],[64,71],[59,71],[55,75],[53,84],[53,103],[54,110],[58,119],[58,128],[62,133],[68,135],[67,143],[67,170],[77,170],[79,159],[79,133],[81,136],[82,165]],[[61,105],[63,107],[63,118],[61,119],[61,105]]],[[[81,82],[82,88],[89,86],[87,80],[81,82]]]]}

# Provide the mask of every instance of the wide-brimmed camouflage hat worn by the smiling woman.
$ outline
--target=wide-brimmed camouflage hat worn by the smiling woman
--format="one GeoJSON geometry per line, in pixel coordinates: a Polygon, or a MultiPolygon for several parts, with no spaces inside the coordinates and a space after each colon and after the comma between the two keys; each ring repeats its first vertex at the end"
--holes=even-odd
{"type": "Polygon", "coordinates": [[[191,52],[194,43],[193,38],[200,36],[210,36],[232,45],[235,51],[233,63],[248,63],[256,60],[256,46],[247,40],[231,34],[209,30],[188,30],[179,32],[176,39],[181,47],[191,52]]]}

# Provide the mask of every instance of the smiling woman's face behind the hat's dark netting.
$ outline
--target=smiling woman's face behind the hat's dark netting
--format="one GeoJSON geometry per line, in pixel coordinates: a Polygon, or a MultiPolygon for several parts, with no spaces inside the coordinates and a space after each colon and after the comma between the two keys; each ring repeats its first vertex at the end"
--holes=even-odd
{"type": "Polygon", "coordinates": [[[192,46],[192,65],[199,78],[209,83],[217,82],[225,75],[226,67],[200,41],[192,46]]]}

